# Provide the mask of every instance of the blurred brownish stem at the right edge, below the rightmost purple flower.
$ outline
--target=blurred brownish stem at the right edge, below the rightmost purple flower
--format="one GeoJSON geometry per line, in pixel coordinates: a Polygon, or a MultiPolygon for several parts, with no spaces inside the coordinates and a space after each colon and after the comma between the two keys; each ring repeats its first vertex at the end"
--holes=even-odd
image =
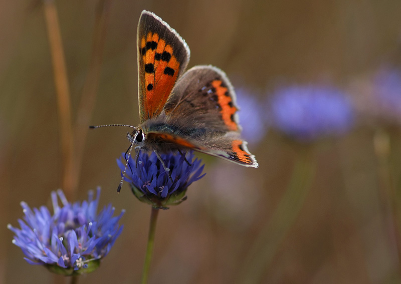
{"type": "MultiPolygon", "coordinates": [[[[377,170],[382,186],[382,202],[385,205],[385,213],[390,214],[390,221],[393,227],[398,259],[401,259],[401,235],[399,232],[399,215],[397,207],[397,192],[395,188],[394,176],[390,165],[390,136],[384,130],[377,130],[373,136],[374,153],[377,158],[377,170]]],[[[401,261],[398,261],[401,271],[401,261]]]]}

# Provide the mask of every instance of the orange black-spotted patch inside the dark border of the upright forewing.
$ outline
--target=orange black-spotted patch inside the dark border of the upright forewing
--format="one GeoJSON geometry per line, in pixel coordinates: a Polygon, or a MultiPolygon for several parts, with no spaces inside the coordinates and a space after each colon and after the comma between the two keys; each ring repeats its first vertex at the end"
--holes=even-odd
{"type": "Polygon", "coordinates": [[[177,80],[179,62],[173,55],[173,47],[149,32],[141,39],[140,53],[145,71],[144,92],[146,94],[147,118],[158,115],[177,80]]]}

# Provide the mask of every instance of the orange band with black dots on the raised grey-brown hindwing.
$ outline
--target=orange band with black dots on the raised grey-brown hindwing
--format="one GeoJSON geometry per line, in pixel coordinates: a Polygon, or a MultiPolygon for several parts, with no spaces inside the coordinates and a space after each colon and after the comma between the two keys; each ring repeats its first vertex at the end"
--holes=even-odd
{"type": "Polygon", "coordinates": [[[220,113],[222,114],[224,123],[230,130],[237,131],[238,125],[234,115],[238,109],[236,106],[234,106],[233,99],[229,94],[228,88],[221,80],[214,80],[212,82],[212,86],[215,88],[219,99],[219,105],[221,107],[220,113]]]}

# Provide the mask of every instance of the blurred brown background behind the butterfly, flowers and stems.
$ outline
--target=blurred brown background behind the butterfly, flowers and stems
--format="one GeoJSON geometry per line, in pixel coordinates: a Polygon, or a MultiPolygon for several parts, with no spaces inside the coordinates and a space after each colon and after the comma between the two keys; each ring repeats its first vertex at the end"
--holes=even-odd
{"type": "MultiPolygon", "coordinates": [[[[139,124],[136,26],[143,9],[169,23],[191,50],[189,66],[212,64],[235,87],[261,100],[284,82],[329,81],[346,88],[354,77],[396,62],[401,35],[399,0],[56,1],[77,121],[93,52],[96,19],[105,15],[97,97],[89,124],[139,124]]],[[[0,2],[0,282],[51,283],[45,268],[23,259],[8,223],[23,216],[20,201],[50,206],[63,186],[59,114],[41,1],[0,2]]],[[[246,127],[246,126],[245,126],[246,127]]],[[[150,208],[116,188],[116,158],[129,145],[126,129],[86,136],[78,193],[102,187],[124,230],[100,268],[80,283],[139,282],[150,208]]],[[[401,135],[392,129],[399,159],[401,135]]],[[[149,283],[401,283],[388,201],[380,189],[373,131],[360,126],[315,151],[315,173],[299,214],[251,280],[245,259],[266,229],[288,185],[297,148],[274,132],[250,145],[260,167],[238,168],[202,156],[207,176],[188,199],[162,211],[149,283]],[[217,175],[216,173],[219,173],[217,175]],[[235,175],[236,183],[225,182],[235,175]],[[239,178],[240,177],[240,178],[239,178]],[[245,280],[244,280],[245,279],[245,280]],[[248,279],[248,280],[247,280],[248,279]]],[[[395,163],[395,165],[399,165],[395,163]]],[[[396,168],[398,169],[398,168],[396,168]]],[[[269,227],[272,234],[275,227],[269,227]]],[[[269,234],[270,235],[270,234],[269,234]]],[[[259,253],[271,238],[262,241],[259,253]]],[[[258,249],[257,249],[258,251],[258,249]]],[[[255,257],[251,257],[255,258],[255,257]]],[[[261,263],[259,263],[261,264],[261,263]]],[[[56,279],[60,281],[60,279],[56,279]]]]}

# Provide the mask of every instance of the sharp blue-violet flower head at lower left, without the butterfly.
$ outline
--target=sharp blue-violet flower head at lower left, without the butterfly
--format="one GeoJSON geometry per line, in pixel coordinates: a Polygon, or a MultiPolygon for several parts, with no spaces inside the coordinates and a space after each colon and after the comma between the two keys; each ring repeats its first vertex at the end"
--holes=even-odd
{"type": "Polygon", "coordinates": [[[114,216],[109,204],[97,213],[100,188],[96,197],[89,191],[88,200],[68,202],[61,189],[51,193],[53,215],[46,206],[31,209],[21,202],[23,219],[20,229],[11,224],[13,243],[21,247],[30,264],[45,265],[52,272],[77,275],[95,270],[108,254],[123,226],[118,221],[124,210],[114,216]],[[59,206],[57,196],[62,202],[59,206]]]}

